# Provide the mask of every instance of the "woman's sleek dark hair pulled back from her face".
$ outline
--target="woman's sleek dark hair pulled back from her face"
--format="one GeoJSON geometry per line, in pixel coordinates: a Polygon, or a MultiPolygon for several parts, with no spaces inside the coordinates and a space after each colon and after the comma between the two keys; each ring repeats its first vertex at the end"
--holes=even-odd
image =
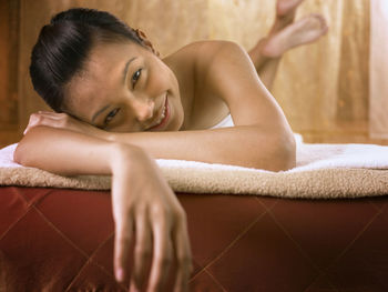
{"type": "Polygon", "coordinates": [[[143,44],[136,31],[109,12],[73,8],[58,13],[41,29],[32,49],[34,90],[54,111],[64,111],[64,87],[83,69],[93,46],[125,40],[143,44]]]}

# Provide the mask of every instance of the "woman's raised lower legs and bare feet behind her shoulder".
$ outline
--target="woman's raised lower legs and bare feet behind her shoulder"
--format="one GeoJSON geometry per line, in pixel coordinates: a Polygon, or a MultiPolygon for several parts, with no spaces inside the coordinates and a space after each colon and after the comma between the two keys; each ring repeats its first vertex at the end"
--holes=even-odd
{"type": "Polygon", "coordinates": [[[248,52],[268,90],[272,89],[282,56],[292,48],[316,41],[327,31],[325,19],[318,14],[294,22],[296,9],[302,1],[278,0],[276,20],[268,36],[248,52]]]}

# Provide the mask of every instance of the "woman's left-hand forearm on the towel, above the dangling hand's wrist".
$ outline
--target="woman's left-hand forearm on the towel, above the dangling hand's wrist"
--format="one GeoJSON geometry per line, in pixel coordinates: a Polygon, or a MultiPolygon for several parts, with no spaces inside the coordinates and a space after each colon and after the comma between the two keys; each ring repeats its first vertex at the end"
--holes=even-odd
{"type": "Polygon", "coordinates": [[[35,127],[19,142],[13,158],[24,167],[62,175],[112,174],[123,152],[135,158],[144,151],[73,131],[35,127]]]}

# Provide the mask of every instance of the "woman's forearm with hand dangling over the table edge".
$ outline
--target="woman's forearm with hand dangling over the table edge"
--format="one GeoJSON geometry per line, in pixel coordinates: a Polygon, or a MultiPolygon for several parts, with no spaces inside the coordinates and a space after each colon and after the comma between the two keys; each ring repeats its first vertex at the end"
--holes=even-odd
{"type": "Polygon", "coordinates": [[[19,143],[14,160],[64,175],[112,174],[118,281],[127,276],[126,259],[136,230],[132,284],[141,290],[153,253],[149,280],[152,291],[160,291],[167,276],[166,264],[173,260],[178,264],[176,288],[187,291],[191,250],[185,212],[155,162],[143,150],[63,129],[34,127],[19,143]]]}

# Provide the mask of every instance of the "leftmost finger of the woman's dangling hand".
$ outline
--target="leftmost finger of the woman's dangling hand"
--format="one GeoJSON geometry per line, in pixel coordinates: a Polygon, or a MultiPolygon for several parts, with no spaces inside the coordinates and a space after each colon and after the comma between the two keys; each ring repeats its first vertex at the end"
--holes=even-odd
{"type": "Polygon", "coordinates": [[[114,274],[118,282],[123,282],[126,278],[127,258],[133,233],[132,217],[122,218],[121,220],[122,222],[115,222],[114,236],[114,274]]]}

